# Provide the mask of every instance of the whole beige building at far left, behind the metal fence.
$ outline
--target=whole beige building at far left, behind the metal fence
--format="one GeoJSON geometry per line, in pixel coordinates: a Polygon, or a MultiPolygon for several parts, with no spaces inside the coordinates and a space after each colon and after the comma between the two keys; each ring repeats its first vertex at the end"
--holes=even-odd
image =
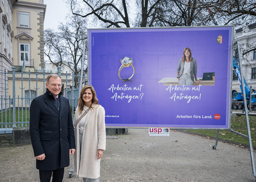
{"type": "MultiPolygon", "coordinates": [[[[44,70],[44,0],[0,1],[0,95],[13,98],[13,86],[15,98],[42,95],[44,90],[38,88],[44,87],[44,77],[35,73],[44,70]],[[15,84],[11,74],[14,67],[15,84]]],[[[0,109],[9,105],[9,100],[5,100],[0,109]]]]}

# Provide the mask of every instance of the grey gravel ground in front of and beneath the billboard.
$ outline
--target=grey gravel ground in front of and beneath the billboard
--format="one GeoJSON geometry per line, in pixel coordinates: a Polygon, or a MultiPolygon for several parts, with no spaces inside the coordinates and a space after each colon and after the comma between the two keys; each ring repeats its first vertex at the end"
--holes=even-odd
{"type": "MultiPolygon", "coordinates": [[[[108,137],[100,181],[255,181],[250,151],[232,144],[172,130],[148,137],[147,129],[108,137]]],[[[39,181],[31,145],[0,147],[0,181],[39,181]]],[[[255,152],[254,152],[254,157],[255,152]]],[[[256,162],[256,160],[255,160],[256,162]]],[[[63,181],[83,181],[76,175],[63,181]]]]}

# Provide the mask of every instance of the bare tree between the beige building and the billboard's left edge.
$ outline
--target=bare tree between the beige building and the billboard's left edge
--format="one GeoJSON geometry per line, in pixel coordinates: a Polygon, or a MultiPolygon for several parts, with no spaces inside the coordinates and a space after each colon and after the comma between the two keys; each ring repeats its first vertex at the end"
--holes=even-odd
{"type": "MultiPolygon", "coordinates": [[[[78,75],[83,57],[83,43],[87,39],[86,22],[72,15],[66,24],[60,24],[58,31],[46,29],[45,56],[56,66],[68,66],[74,75],[78,75]]],[[[75,84],[78,80],[75,80],[75,84]]]]}

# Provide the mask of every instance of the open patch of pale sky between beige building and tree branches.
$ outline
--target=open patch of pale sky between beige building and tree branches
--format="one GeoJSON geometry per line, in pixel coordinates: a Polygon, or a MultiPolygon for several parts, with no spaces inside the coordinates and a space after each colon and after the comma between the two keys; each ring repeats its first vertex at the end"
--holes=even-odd
{"type": "Polygon", "coordinates": [[[63,0],[44,0],[44,4],[46,4],[44,29],[57,29],[60,22],[65,22],[70,8],[67,8],[63,0]]]}

